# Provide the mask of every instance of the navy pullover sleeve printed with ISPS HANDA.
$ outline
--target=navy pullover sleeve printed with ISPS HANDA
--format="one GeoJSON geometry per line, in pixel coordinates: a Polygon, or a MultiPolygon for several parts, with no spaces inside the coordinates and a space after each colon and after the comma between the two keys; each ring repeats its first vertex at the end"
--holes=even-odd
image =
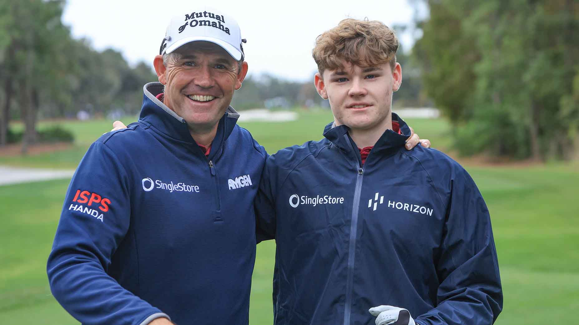
{"type": "Polygon", "coordinates": [[[129,179],[95,142],[71,180],[47,262],[50,290],[83,324],[148,324],[167,317],[107,274],[130,220],[129,179]]]}

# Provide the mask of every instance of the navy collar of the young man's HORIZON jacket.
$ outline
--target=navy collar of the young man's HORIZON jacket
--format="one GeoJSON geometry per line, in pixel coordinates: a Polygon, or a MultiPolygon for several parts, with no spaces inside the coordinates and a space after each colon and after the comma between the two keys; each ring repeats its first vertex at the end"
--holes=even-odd
{"type": "MultiPolygon", "coordinates": [[[[410,128],[406,125],[398,115],[392,113],[392,120],[400,123],[400,132],[398,134],[392,130],[386,130],[374,145],[372,153],[389,154],[404,147],[406,139],[410,136],[410,128]]],[[[324,136],[330,142],[334,143],[336,147],[345,152],[357,149],[356,143],[351,139],[348,131],[349,127],[346,125],[335,126],[334,122],[326,125],[324,128],[324,136]]]]}

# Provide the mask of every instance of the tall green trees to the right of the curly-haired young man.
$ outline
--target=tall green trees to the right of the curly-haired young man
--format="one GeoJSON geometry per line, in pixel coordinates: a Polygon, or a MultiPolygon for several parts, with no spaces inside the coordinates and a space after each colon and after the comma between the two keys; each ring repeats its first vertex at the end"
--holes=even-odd
{"type": "Polygon", "coordinates": [[[461,152],[569,159],[577,147],[579,3],[428,1],[416,56],[461,152]]]}

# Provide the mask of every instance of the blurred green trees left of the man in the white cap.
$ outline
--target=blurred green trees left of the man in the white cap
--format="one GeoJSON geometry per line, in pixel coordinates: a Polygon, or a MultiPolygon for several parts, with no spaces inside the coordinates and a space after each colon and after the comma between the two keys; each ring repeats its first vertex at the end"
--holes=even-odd
{"type": "Polygon", "coordinates": [[[115,50],[74,40],[61,23],[64,0],[0,0],[0,145],[9,120],[24,123],[23,152],[36,141],[39,117],[137,113],[151,66],[134,68],[115,50]]]}

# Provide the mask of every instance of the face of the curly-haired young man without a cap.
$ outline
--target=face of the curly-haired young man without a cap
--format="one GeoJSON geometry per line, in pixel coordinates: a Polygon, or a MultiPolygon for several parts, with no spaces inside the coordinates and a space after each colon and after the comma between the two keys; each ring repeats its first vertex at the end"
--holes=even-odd
{"type": "Polygon", "coordinates": [[[321,97],[329,100],[336,125],[353,131],[386,130],[392,127],[392,92],[402,82],[400,64],[360,67],[342,61],[342,67],[316,73],[314,83],[321,97]]]}

